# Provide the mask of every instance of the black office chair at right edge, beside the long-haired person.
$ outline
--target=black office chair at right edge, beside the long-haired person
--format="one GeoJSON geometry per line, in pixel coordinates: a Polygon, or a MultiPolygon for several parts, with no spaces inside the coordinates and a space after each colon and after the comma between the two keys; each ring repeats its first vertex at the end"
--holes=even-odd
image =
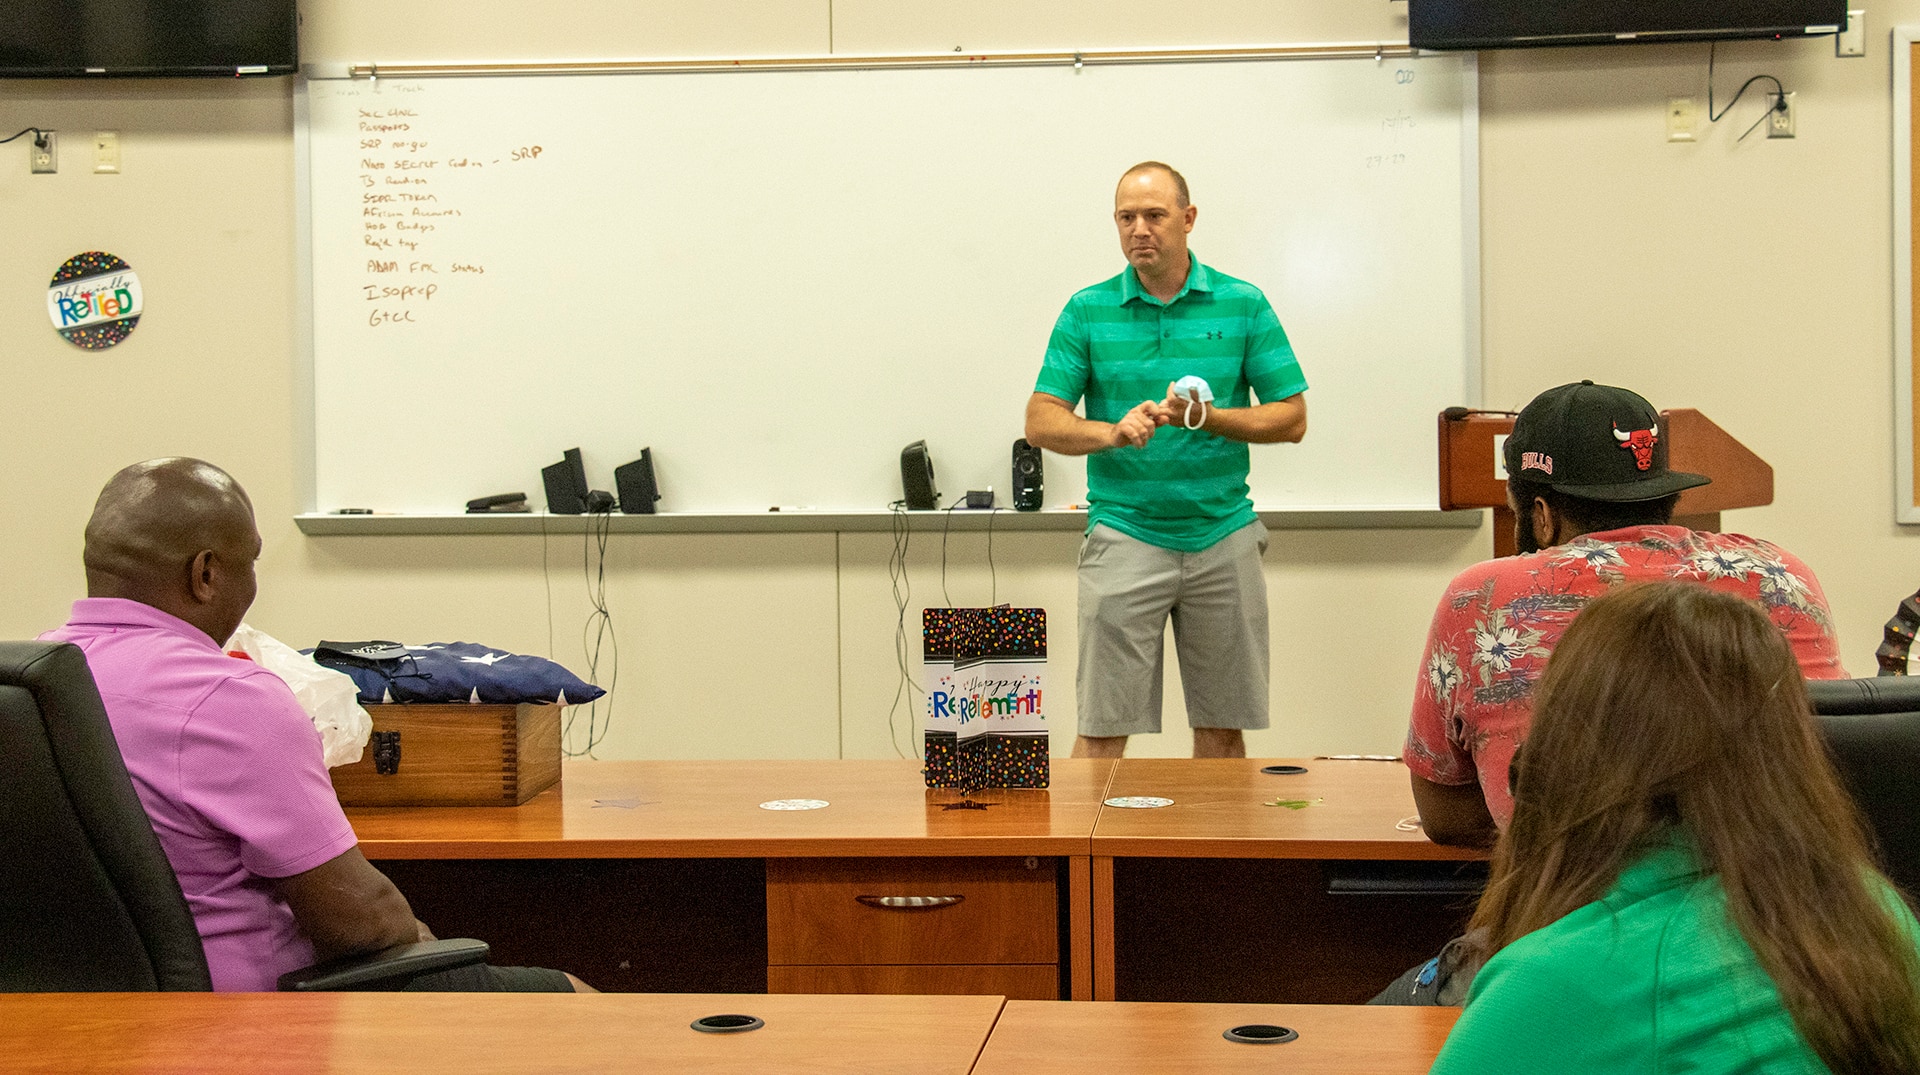
{"type": "Polygon", "coordinates": [[[1807,695],[1887,877],[1920,896],[1920,676],[1809,680],[1807,695]]]}

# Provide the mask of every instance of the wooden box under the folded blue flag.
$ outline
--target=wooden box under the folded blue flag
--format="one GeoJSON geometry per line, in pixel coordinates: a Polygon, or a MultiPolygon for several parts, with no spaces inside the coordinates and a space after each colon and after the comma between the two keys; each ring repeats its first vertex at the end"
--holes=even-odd
{"type": "Polygon", "coordinates": [[[561,779],[557,705],[371,705],[372,741],[332,770],[342,806],[518,806],[561,779]],[[392,772],[382,739],[397,731],[392,772]]]}

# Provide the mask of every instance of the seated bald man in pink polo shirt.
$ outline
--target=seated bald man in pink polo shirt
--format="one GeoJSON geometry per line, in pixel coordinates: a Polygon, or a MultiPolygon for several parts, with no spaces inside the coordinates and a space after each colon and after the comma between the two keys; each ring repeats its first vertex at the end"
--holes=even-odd
{"type": "MultiPolygon", "coordinates": [[[[86,653],[219,991],[269,991],[317,960],[432,939],[361,854],[294,693],[221,651],[253,603],[259,547],[253,505],[219,466],[129,466],[86,524],[88,597],[42,635],[86,653]]],[[[409,989],[589,991],[561,971],[484,966],[409,989]]]]}

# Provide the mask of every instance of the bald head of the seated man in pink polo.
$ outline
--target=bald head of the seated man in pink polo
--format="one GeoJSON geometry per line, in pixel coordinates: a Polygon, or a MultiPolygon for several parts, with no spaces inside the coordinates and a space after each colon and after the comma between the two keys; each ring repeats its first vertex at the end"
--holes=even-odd
{"type": "Polygon", "coordinates": [[[225,643],[253,603],[259,530],[230,474],[200,459],[134,463],[86,520],[86,593],[152,605],[225,643]]]}

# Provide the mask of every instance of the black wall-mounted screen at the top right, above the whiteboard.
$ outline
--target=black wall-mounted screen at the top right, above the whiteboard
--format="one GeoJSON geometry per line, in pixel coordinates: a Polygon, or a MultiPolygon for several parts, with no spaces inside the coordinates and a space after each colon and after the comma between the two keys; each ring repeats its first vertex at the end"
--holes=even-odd
{"type": "Polygon", "coordinates": [[[1809,36],[1847,25],[1849,0],[1407,0],[1415,48],[1530,48],[1809,36]]]}

